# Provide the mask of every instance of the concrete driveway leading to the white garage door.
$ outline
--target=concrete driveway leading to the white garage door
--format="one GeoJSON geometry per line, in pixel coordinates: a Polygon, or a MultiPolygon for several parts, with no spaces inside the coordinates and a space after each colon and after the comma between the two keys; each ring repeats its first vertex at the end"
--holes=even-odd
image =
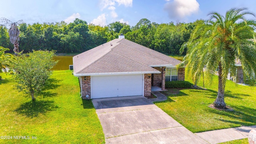
{"type": "Polygon", "coordinates": [[[144,96],[92,100],[106,144],[208,144],[144,96]]]}

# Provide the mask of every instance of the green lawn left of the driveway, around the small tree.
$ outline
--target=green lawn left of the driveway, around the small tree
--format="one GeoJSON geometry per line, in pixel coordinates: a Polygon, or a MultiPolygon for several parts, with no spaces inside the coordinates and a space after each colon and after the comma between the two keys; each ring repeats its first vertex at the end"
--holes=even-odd
{"type": "Polygon", "coordinates": [[[32,136],[35,140],[1,140],[0,143],[105,143],[91,101],[81,100],[78,78],[70,70],[54,71],[51,84],[32,103],[14,89],[10,75],[0,73],[0,136],[32,136]]]}

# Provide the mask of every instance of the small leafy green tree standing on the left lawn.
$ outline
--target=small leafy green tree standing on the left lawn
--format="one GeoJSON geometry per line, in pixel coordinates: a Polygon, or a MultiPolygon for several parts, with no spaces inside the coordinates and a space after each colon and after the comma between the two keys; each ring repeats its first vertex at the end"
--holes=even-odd
{"type": "Polygon", "coordinates": [[[18,84],[17,89],[26,94],[30,94],[32,101],[36,100],[36,94],[47,84],[51,68],[56,65],[53,59],[54,51],[33,51],[28,54],[17,56],[17,62],[14,63],[14,75],[18,84]]]}

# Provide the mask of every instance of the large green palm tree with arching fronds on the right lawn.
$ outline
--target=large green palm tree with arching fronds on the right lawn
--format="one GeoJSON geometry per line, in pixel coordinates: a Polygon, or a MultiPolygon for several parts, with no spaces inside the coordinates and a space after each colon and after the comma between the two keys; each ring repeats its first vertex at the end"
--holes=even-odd
{"type": "Polygon", "coordinates": [[[246,8],[232,8],[225,16],[218,12],[208,15],[210,19],[198,24],[188,42],[182,45],[180,52],[185,48],[187,52],[180,66],[187,66],[186,70],[193,76],[194,83],[198,82],[204,67],[204,76],[210,82],[218,69],[218,95],[213,104],[216,108],[226,108],[226,78],[229,71],[236,74],[235,60],[241,61],[248,84],[255,85],[256,21],[245,18],[246,15],[254,16],[246,8]]]}

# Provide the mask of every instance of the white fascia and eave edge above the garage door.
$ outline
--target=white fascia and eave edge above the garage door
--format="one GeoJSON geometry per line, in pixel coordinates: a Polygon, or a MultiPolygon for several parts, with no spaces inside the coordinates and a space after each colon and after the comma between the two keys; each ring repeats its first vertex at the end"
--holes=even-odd
{"type": "Polygon", "coordinates": [[[160,74],[160,71],[152,72],[108,72],[108,73],[87,73],[87,74],[74,74],[74,76],[108,76],[108,75],[127,75],[127,74],[160,74]]]}

